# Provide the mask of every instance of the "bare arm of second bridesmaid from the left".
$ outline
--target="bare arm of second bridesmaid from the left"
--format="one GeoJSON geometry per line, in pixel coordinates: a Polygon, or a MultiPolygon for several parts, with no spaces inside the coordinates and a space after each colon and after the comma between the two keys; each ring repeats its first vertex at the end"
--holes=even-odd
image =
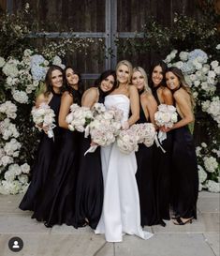
{"type": "Polygon", "coordinates": [[[68,128],[66,123],[66,115],[69,113],[69,108],[73,104],[73,98],[68,92],[65,92],[61,98],[61,106],[59,113],[59,126],[61,128],[68,128]]]}

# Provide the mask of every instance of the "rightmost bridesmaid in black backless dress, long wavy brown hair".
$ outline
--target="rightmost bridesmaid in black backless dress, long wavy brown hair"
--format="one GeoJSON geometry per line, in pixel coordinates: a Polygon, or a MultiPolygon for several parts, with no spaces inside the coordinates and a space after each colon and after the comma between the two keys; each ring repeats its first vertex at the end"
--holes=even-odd
{"type": "Polygon", "coordinates": [[[167,70],[166,82],[178,113],[178,122],[164,130],[168,132],[173,129],[173,210],[176,215],[173,222],[184,225],[197,218],[198,166],[193,136],[188,128],[188,124],[194,121],[194,100],[179,68],[167,70]]]}

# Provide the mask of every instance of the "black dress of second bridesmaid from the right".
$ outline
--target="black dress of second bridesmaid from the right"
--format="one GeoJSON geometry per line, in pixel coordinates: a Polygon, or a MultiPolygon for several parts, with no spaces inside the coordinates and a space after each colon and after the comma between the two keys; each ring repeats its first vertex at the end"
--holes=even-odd
{"type": "MultiPolygon", "coordinates": [[[[157,96],[157,89],[153,88],[152,92],[157,105],[160,105],[157,96]]],[[[172,130],[167,132],[167,139],[161,144],[166,150],[163,153],[160,147],[154,143],[154,157],[153,157],[153,170],[154,170],[154,188],[156,197],[156,211],[157,220],[170,219],[169,217],[169,203],[170,203],[170,181],[171,181],[171,157],[173,138],[172,130]]]]}

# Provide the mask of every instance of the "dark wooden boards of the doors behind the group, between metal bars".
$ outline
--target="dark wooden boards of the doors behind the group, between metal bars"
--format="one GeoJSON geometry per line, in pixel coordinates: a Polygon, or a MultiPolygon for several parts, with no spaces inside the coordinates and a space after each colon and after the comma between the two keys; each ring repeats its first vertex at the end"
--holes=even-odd
{"type": "MultiPolygon", "coordinates": [[[[13,0],[13,11],[24,7],[27,0],[13,0]]],[[[110,0],[109,0],[110,1],[110,0]]],[[[139,32],[146,19],[154,16],[159,22],[171,25],[175,12],[198,17],[198,0],[111,0],[117,1],[117,32],[139,32]]],[[[33,27],[48,32],[105,32],[105,0],[29,0],[33,15],[33,27]]],[[[44,38],[37,39],[42,44],[44,38]]],[[[125,40],[125,38],[121,38],[125,40]]],[[[88,53],[74,53],[66,56],[66,64],[73,64],[81,73],[100,73],[105,66],[102,42],[98,38],[88,53]]],[[[170,49],[171,51],[172,49],[170,49]]],[[[158,57],[158,56],[156,56],[158,57]]],[[[164,56],[161,56],[164,57],[164,56]]],[[[152,54],[118,54],[117,60],[128,59],[134,66],[149,69],[152,54]]],[[[114,67],[112,67],[114,68],[114,67]]]]}

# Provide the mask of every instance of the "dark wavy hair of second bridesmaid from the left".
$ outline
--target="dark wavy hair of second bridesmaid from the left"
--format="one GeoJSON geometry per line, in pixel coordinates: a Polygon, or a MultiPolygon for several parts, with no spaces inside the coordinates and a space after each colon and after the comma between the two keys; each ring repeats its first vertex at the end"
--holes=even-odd
{"type": "Polygon", "coordinates": [[[67,66],[65,69],[64,69],[64,74],[65,74],[65,86],[66,86],[66,91],[73,96],[74,100],[75,100],[75,103],[78,103],[79,105],[81,104],[81,96],[84,92],[84,85],[82,83],[82,79],[81,79],[81,74],[78,73],[78,72],[75,72],[74,68],[71,67],[71,66],[67,66]],[[78,90],[74,90],[68,83],[67,83],[67,80],[66,80],[66,70],[68,68],[71,68],[73,71],[74,71],[74,74],[76,74],[78,77],[79,77],[79,82],[78,82],[78,90]]]}

